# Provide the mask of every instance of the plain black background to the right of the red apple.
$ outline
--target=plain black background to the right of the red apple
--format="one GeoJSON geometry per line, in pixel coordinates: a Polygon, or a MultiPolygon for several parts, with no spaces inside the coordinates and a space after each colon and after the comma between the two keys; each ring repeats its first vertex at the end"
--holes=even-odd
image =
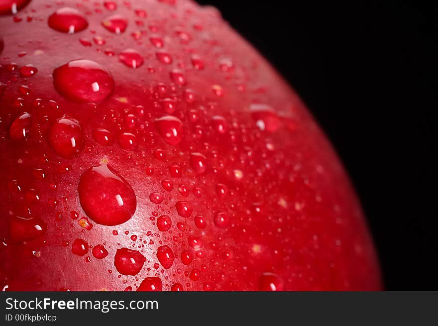
{"type": "Polygon", "coordinates": [[[329,135],[368,217],[385,288],[436,290],[438,6],[199,2],[268,58],[329,135]]]}

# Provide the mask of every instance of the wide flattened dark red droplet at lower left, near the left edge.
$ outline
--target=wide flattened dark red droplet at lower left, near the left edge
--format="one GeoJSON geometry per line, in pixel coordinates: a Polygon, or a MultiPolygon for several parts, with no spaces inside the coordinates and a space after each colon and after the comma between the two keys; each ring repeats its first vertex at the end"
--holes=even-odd
{"type": "Polygon", "coordinates": [[[9,219],[9,236],[15,242],[32,240],[43,235],[46,230],[46,224],[39,217],[15,216],[9,219]]]}

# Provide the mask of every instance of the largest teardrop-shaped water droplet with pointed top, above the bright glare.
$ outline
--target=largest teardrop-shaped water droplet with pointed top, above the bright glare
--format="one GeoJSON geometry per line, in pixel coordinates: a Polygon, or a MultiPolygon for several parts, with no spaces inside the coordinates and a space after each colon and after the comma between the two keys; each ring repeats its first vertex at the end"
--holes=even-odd
{"type": "Polygon", "coordinates": [[[99,224],[124,223],[137,207],[131,186],[107,164],[86,170],[79,181],[78,192],[82,209],[99,224]]]}

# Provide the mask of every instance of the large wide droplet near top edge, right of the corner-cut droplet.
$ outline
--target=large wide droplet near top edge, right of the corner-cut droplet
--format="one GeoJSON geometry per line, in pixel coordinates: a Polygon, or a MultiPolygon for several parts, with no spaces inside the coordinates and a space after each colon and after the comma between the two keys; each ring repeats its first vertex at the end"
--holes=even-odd
{"type": "Polygon", "coordinates": [[[49,26],[63,33],[73,34],[88,27],[87,19],[74,8],[59,8],[50,15],[49,26]]]}

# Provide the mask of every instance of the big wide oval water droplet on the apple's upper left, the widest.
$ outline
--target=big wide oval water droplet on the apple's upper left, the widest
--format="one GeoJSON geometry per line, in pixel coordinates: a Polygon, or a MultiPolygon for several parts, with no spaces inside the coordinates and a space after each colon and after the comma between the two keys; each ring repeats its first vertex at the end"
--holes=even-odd
{"type": "Polygon", "coordinates": [[[59,94],[75,102],[101,102],[112,93],[114,80],[109,71],[91,60],[73,60],[53,71],[59,94]]]}

